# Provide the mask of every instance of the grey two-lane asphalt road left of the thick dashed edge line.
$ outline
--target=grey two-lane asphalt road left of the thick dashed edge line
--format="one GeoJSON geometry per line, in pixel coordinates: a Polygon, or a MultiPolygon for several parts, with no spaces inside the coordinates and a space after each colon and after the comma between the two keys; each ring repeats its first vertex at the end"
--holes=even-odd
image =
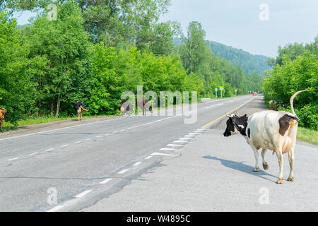
{"type": "Polygon", "coordinates": [[[194,124],[184,123],[189,115],[134,115],[0,136],[0,211],[93,207],[162,160],[181,155],[201,126],[254,98],[201,103],[192,109],[197,113],[194,124]]]}

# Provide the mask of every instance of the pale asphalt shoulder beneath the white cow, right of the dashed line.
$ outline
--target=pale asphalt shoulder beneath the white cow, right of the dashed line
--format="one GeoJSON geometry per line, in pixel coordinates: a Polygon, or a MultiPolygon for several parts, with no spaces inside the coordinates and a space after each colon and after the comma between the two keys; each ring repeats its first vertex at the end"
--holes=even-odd
{"type": "MultiPolygon", "coordinates": [[[[238,111],[249,115],[260,109],[264,105],[256,97],[238,111]]],[[[276,155],[267,152],[269,169],[252,172],[252,149],[240,134],[223,136],[225,120],[227,117],[208,124],[194,141],[170,153],[175,156],[166,156],[119,192],[82,211],[318,210],[317,145],[297,141],[295,181],[287,181],[288,156],[284,155],[284,181],[276,184],[276,155]]]]}

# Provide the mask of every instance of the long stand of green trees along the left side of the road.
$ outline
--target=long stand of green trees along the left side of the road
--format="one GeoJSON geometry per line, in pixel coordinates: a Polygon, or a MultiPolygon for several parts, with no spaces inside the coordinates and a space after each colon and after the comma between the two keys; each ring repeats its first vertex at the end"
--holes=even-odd
{"type": "Polygon", "coordinates": [[[261,90],[262,77],[216,57],[204,29],[159,22],[170,0],[0,1],[0,107],[7,121],[72,115],[83,100],[89,114],[119,114],[126,90],[197,91],[225,97],[261,90]],[[52,5],[53,4],[53,5],[52,5]],[[54,11],[56,8],[57,11],[54,11]],[[37,11],[17,26],[14,11],[37,11]],[[173,40],[182,37],[175,47],[173,40]]]}

